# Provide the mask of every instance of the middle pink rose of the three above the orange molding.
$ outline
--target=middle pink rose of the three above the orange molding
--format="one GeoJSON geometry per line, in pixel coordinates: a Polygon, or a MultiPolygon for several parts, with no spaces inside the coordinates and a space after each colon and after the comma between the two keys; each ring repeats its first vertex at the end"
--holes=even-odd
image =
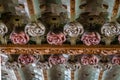
{"type": "Polygon", "coordinates": [[[54,32],[49,32],[47,34],[47,42],[49,44],[62,45],[62,43],[65,42],[65,40],[66,40],[66,37],[62,32],[57,34],[54,32]]]}

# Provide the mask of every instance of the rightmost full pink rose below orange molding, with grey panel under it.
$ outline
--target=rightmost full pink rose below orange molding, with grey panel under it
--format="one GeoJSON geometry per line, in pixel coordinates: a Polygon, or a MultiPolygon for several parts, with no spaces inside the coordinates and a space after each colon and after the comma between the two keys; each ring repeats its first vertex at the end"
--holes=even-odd
{"type": "Polygon", "coordinates": [[[98,80],[100,69],[95,67],[98,63],[96,56],[82,56],[81,68],[75,71],[75,80],[98,80]]]}

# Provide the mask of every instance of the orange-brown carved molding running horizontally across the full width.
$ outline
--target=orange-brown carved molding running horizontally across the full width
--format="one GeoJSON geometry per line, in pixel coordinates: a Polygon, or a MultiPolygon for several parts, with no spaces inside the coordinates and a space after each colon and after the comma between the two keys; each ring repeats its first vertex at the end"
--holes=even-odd
{"type": "Polygon", "coordinates": [[[1,53],[7,54],[120,54],[120,45],[85,46],[85,45],[1,45],[1,53]]]}

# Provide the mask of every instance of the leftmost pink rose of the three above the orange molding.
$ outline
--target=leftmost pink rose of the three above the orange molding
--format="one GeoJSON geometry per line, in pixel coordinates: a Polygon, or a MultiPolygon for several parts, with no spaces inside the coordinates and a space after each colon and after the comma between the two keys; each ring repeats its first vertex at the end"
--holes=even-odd
{"type": "Polygon", "coordinates": [[[10,34],[10,39],[14,44],[26,44],[29,41],[29,36],[24,32],[12,32],[10,34]]]}

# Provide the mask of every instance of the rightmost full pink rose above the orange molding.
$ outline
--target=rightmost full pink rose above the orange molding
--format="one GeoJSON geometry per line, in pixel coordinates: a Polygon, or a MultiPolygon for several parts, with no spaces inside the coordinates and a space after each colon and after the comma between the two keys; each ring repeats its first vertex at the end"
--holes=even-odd
{"type": "Polygon", "coordinates": [[[100,43],[101,37],[97,32],[85,32],[81,37],[81,41],[87,46],[97,45],[100,43]]]}

